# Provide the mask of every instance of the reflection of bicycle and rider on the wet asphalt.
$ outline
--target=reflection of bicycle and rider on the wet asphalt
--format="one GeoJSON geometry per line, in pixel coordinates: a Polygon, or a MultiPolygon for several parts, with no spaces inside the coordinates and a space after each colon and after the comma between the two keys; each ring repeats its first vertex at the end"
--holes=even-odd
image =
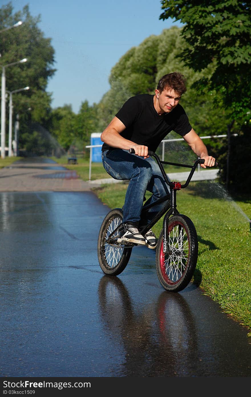
{"type": "Polygon", "coordinates": [[[197,360],[197,333],[180,294],[163,292],[138,306],[121,279],[104,276],[98,297],[104,332],[124,349],[116,376],[186,376],[197,360]]]}

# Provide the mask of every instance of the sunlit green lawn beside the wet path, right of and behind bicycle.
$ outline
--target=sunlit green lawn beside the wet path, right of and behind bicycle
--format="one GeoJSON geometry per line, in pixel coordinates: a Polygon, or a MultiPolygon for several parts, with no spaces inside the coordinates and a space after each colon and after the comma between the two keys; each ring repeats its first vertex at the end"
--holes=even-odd
{"type": "MultiPolygon", "coordinates": [[[[124,203],[127,185],[107,184],[94,189],[110,208],[124,203]]],[[[238,197],[236,204],[216,182],[192,182],[177,192],[177,208],[194,222],[199,255],[193,281],[220,304],[222,311],[251,329],[251,200],[238,197]]],[[[160,220],[153,231],[158,236],[160,220]]]]}

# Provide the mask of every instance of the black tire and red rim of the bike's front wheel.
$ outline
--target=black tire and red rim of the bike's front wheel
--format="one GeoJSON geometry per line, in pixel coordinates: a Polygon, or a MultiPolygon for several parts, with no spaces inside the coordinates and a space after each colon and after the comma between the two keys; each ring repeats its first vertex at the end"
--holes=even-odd
{"type": "MultiPolygon", "coordinates": [[[[182,273],[180,279],[175,282],[169,280],[169,277],[164,275],[164,264],[163,264],[163,230],[161,231],[158,239],[158,244],[156,248],[156,270],[157,276],[161,285],[167,290],[171,292],[179,292],[182,289],[186,288],[190,283],[192,276],[194,274],[194,270],[197,265],[198,258],[198,239],[197,232],[195,226],[190,218],[186,215],[174,215],[169,218],[169,233],[172,231],[173,227],[176,225],[181,225],[183,229],[185,229],[187,239],[188,239],[188,258],[186,261],[185,270],[182,273]],[[162,252],[161,252],[162,250],[162,252]]],[[[165,254],[167,256],[167,254],[165,254]]],[[[169,259],[169,256],[166,257],[165,260],[169,259]],[[167,258],[167,259],[166,259],[167,258]]]]}

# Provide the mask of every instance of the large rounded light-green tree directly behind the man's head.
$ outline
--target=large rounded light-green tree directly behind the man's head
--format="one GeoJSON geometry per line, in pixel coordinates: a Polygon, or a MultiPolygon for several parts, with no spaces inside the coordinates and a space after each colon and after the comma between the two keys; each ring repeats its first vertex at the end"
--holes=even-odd
{"type": "MultiPolygon", "coordinates": [[[[180,103],[184,105],[195,131],[199,135],[226,133],[228,113],[223,107],[222,96],[218,95],[216,119],[213,92],[198,95],[196,89],[192,88],[199,79],[210,77],[213,67],[210,65],[203,71],[195,72],[185,66],[184,61],[178,57],[187,47],[180,35],[181,31],[182,29],[174,26],[164,29],[158,36],[149,36],[138,47],[128,50],[111,69],[111,89],[103,96],[98,106],[98,118],[102,129],[130,96],[153,94],[164,74],[179,71],[187,80],[187,92],[182,96],[180,103]]],[[[217,152],[221,141],[211,141],[210,145],[214,152],[217,152]]]]}

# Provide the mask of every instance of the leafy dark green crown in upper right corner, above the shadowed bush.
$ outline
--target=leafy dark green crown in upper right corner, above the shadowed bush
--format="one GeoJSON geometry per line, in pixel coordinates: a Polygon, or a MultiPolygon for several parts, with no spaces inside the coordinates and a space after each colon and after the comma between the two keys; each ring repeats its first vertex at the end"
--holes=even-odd
{"type": "Polygon", "coordinates": [[[250,2],[242,0],[162,0],[160,19],[184,23],[187,46],[180,54],[194,71],[214,66],[197,87],[216,89],[240,123],[250,119],[251,19],[250,2]]]}

